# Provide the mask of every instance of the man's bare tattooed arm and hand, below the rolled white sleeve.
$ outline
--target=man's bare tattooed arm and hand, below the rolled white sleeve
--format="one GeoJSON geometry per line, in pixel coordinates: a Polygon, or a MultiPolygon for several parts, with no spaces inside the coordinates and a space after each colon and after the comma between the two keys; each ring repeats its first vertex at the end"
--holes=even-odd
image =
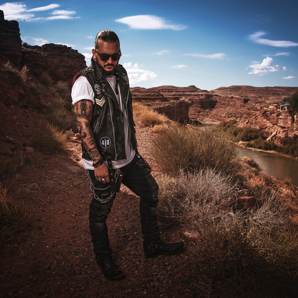
{"type": "MultiPolygon", "coordinates": [[[[90,127],[90,121],[92,118],[93,103],[91,100],[80,100],[75,103],[75,113],[77,115],[77,128],[83,140],[83,144],[88,151],[91,159],[94,163],[102,159],[93,132],[90,127]]],[[[108,168],[105,163],[99,167],[94,168],[94,174],[97,180],[105,178],[107,182],[110,181],[108,168]]]]}

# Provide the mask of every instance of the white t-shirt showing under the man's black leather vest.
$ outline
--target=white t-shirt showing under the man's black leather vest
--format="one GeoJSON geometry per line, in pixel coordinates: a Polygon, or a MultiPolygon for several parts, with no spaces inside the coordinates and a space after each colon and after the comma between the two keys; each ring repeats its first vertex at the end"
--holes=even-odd
{"type": "MultiPolygon", "coordinates": [[[[113,86],[114,77],[107,78],[107,81],[111,85],[112,89],[114,90],[114,86],[113,86]]],[[[131,143],[129,140],[128,121],[127,121],[127,116],[126,116],[126,112],[125,112],[125,107],[121,100],[119,85],[118,85],[118,94],[115,93],[115,96],[117,97],[120,110],[122,111],[122,113],[124,115],[125,153],[126,153],[126,157],[127,157],[127,159],[112,161],[113,168],[117,169],[117,168],[125,166],[126,164],[129,164],[132,161],[132,159],[134,158],[135,151],[131,147],[131,143]]],[[[80,101],[82,99],[91,100],[94,103],[94,91],[93,91],[91,85],[89,84],[88,80],[86,79],[86,77],[84,77],[83,75],[80,75],[75,80],[75,83],[72,87],[72,104],[74,105],[75,103],[77,103],[78,101],[80,101]]],[[[84,169],[94,170],[92,163],[93,163],[92,160],[83,158],[84,169]]],[[[105,162],[105,164],[107,164],[107,162],[105,162]]]]}

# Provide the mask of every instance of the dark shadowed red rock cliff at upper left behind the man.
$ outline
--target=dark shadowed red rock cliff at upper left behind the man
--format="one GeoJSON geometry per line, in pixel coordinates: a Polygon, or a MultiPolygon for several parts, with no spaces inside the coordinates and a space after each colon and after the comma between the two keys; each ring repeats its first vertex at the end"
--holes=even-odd
{"type": "Polygon", "coordinates": [[[47,72],[54,82],[71,83],[74,75],[86,67],[85,56],[65,45],[44,44],[22,49],[18,22],[4,20],[0,10],[0,59],[4,58],[18,68],[27,65],[33,76],[47,72]]]}

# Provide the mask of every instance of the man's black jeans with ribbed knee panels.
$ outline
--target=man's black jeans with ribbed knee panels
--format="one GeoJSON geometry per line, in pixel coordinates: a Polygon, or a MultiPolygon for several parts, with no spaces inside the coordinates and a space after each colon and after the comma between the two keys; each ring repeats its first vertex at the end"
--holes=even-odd
{"type": "MultiPolygon", "coordinates": [[[[116,193],[112,193],[109,184],[97,181],[93,170],[87,170],[93,197],[89,207],[89,228],[93,251],[99,258],[111,255],[106,219],[111,212],[116,193]],[[97,198],[100,200],[98,200],[97,198]]],[[[145,162],[137,155],[119,169],[122,183],[140,197],[140,218],[144,242],[156,243],[160,240],[156,207],[158,203],[158,185],[151,176],[145,162]]]]}

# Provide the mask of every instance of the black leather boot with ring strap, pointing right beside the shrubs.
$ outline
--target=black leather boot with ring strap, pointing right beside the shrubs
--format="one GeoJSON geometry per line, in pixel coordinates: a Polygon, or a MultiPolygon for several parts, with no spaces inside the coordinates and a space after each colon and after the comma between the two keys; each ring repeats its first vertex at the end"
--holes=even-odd
{"type": "Polygon", "coordinates": [[[166,256],[172,256],[178,254],[185,248],[183,242],[176,243],[165,243],[162,240],[159,240],[156,243],[148,244],[145,241],[143,242],[143,249],[145,257],[155,258],[159,254],[164,254],[166,256]]]}

